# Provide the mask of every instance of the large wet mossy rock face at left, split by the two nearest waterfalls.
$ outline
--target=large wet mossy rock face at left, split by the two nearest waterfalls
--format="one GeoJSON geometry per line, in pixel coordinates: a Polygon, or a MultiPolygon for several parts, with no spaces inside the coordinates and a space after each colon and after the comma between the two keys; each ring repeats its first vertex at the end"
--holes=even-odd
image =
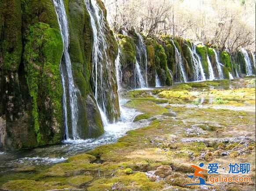
{"type": "MultiPolygon", "coordinates": [[[[81,138],[97,137],[103,133],[103,126],[90,82],[90,17],[84,0],[69,1],[65,8],[73,76],[80,90],[79,131],[81,138]]],[[[59,70],[63,43],[53,2],[4,0],[0,18],[0,148],[59,143],[64,132],[59,70]]],[[[117,51],[108,27],[106,35],[111,37],[110,47],[117,51]]],[[[113,51],[109,54],[114,64],[113,51]]],[[[113,89],[117,93],[117,87],[113,89]]],[[[118,107],[118,99],[114,107],[118,107]]]]}

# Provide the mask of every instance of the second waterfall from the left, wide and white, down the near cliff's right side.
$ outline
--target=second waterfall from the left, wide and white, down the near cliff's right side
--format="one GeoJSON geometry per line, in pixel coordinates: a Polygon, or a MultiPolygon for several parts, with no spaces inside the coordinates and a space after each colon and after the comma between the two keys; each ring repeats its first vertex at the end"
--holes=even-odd
{"type": "MultiPolygon", "coordinates": [[[[100,110],[103,125],[106,126],[109,122],[107,118],[108,114],[118,113],[117,108],[114,108],[113,106],[114,101],[117,100],[118,97],[115,96],[114,92],[111,92],[113,91],[116,76],[113,76],[112,71],[114,71],[114,67],[107,54],[109,46],[105,35],[107,29],[103,12],[97,5],[96,0],[84,0],[84,2],[91,18],[91,28],[93,33],[91,76],[94,97],[100,110]],[[107,109],[109,103],[111,103],[113,107],[107,109]]],[[[113,121],[117,121],[117,119],[114,117],[113,121]]]]}

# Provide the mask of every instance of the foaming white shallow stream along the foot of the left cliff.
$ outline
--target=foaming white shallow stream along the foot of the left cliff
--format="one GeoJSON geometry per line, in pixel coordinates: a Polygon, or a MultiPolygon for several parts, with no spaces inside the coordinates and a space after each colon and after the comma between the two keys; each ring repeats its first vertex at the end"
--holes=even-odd
{"type": "Polygon", "coordinates": [[[135,109],[125,108],[128,100],[121,99],[121,120],[105,126],[105,133],[98,138],[86,140],[65,140],[62,144],[32,150],[15,152],[0,152],[0,173],[12,171],[26,165],[51,165],[64,162],[69,156],[89,151],[103,144],[111,144],[123,137],[127,131],[134,130],[149,124],[148,121],[133,122],[135,116],[141,114],[135,109]]]}

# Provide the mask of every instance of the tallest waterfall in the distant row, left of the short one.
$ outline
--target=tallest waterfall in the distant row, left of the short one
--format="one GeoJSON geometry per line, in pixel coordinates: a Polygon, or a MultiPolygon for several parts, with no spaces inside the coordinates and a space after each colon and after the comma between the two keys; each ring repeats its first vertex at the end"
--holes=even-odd
{"type": "Polygon", "coordinates": [[[147,53],[146,53],[146,45],[144,43],[143,37],[135,30],[135,34],[138,36],[138,43],[136,43],[136,50],[137,50],[137,59],[139,61],[139,66],[144,66],[144,75],[145,76],[145,83],[146,87],[148,86],[147,81],[147,53]]]}

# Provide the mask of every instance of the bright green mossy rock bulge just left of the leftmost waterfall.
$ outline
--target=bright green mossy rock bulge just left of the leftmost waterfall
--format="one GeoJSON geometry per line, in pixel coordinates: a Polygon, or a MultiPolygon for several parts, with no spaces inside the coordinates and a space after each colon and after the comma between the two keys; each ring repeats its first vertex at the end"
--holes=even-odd
{"type": "Polygon", "coordinates": [[[62,86],[59,72],[62,50],[62,37],[57,29],[51,29],[44,23],[29,27],[24,60],[38,145],[51,140],[59,142],[62,138],[62,86]],[[48,137],[52,133],[53,137],[48,137]]]}

